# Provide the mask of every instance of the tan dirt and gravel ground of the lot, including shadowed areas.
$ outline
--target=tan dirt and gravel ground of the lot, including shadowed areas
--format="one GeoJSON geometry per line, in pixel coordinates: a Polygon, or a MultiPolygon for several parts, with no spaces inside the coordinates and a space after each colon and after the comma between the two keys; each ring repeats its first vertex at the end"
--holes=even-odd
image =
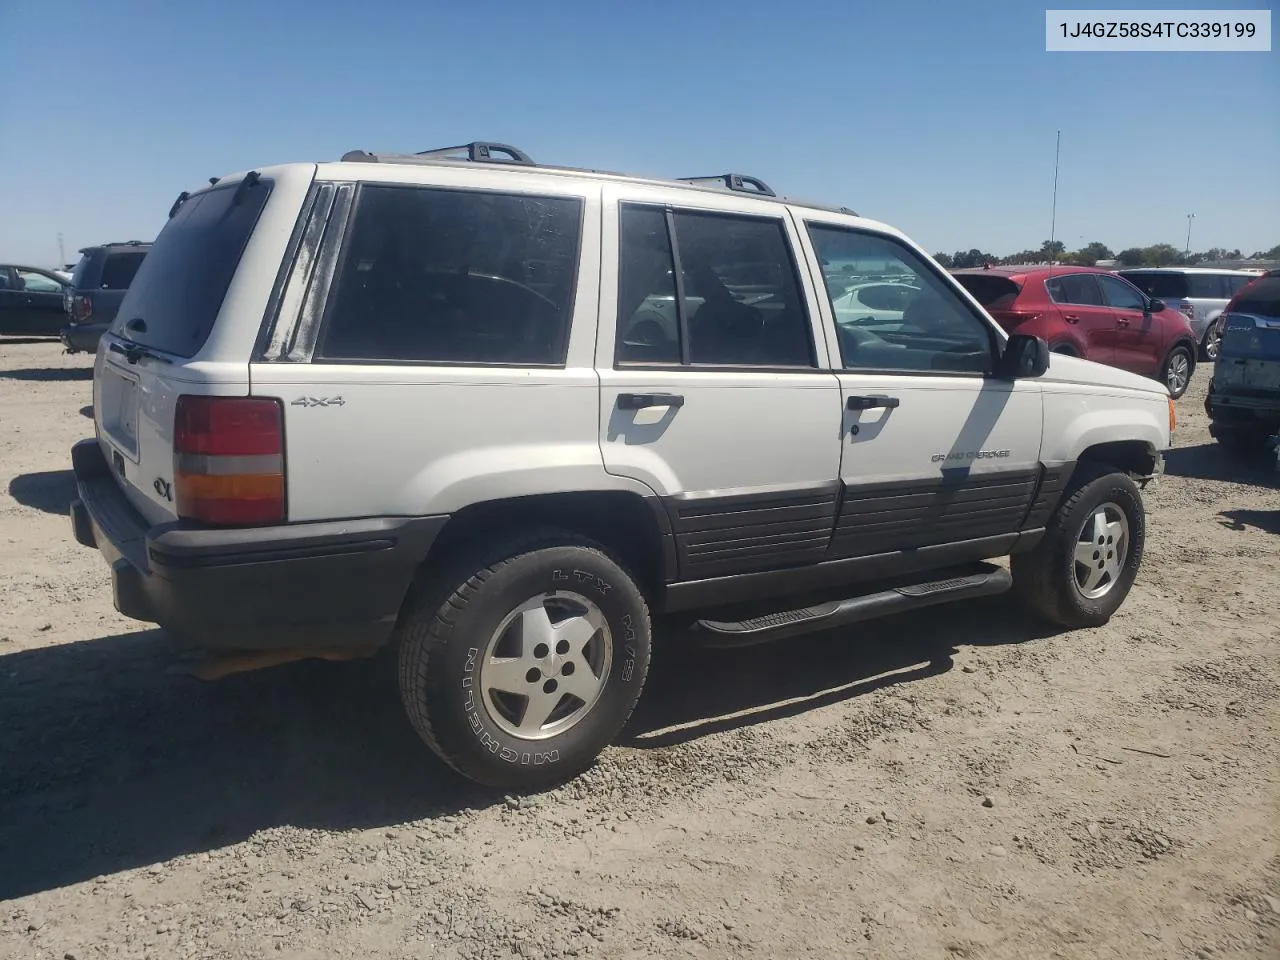
{"type": "Polygon", "coordinates": [[[88,367],[0,344],[0,956],[1280,955],[1280,472],[1206,371],[1107,627],[659,636],[625,745],[516,800],[375,664],[172,672],[70,539],[88,367]]]}

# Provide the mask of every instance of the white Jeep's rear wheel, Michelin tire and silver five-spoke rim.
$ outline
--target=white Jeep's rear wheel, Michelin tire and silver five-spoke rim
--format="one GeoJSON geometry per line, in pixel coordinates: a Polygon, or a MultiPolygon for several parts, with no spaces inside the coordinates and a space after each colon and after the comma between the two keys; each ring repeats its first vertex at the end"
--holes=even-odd
{"type": "Polygon", "coordinates": [[[591,765],[649,669],[644,596],[572,534],[495,543],[424,584],[399,640],[401,699],[462,776],[536,790],[591,765]]]}

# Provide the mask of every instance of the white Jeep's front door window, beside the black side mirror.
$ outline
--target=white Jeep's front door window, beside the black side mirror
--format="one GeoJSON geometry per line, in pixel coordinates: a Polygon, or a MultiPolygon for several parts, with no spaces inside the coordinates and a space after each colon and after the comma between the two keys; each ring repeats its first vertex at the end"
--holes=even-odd
{"type": "Polygon", "coordinates": [[[895,274],[906,296],[892,308],[832,297],[846,370],[927,370],[982,374],[991,369],[991,328],[909,247],[872,233],[809,224],[822,260],[852,262],[863,275],[895,274]]]}

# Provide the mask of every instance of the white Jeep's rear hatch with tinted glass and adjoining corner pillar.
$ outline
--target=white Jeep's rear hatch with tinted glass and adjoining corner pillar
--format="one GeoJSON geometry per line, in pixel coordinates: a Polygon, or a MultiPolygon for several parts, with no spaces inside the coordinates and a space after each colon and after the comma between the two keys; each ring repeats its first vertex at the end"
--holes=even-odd
{"type": "Polygon", "coordinates": [[[102,338],[93,372],[99,443],[116,483],[151,524],[178,517],[179,398],[250,392],[253,340],[306,192],[306,184],[293,187],[278,189],[250,174],[179,200],[102,338]],[[292,205],[292,215],[278,202],[292,205]],[[285,239],[275,230],[255,234],[269,204],[270,216],[288,220],[285,239]],[[248,269],[271,256],[269,269],[248,269]],[[224,328],[239,335],[224,335],[224,328]]]}

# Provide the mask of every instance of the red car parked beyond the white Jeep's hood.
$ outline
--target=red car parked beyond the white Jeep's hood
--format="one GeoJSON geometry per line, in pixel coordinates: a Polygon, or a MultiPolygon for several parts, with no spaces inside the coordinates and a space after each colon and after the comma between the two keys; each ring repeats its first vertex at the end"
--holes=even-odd
{"type": "Polygon", "coordinates": [[[1029,333],[1055,353],[1162,380],[1181,397],[1196,370],[1187,317],[1132,283],[1088,266],[955,270],[960,284],[1010,333],[1029,333]]]}

